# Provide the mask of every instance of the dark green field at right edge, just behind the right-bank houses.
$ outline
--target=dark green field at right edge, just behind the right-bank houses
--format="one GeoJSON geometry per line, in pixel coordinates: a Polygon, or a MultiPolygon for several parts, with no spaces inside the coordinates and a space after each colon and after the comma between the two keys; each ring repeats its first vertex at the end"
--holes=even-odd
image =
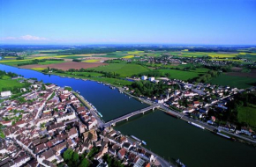
{"type": "Polygon", "coordinates": [[[222,74],[220,76],[215,77],[210,80],[210,84],[219,84],[219,85],[229,85],[231,87],[237,88],[248,88],[252,85],[252,83],[256,82],[256,78],[252,77],[243,77],[243,76],[229,76],[226,74],[222,74]]]}

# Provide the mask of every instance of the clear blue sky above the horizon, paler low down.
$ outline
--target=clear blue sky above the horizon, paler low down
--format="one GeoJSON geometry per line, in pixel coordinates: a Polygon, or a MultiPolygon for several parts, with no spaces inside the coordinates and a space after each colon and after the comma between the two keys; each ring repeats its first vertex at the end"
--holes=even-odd
{"type": "Polygon", "coordinates": [[[0,0],[2,44],[256,44],[256,0],[0,0]]]}

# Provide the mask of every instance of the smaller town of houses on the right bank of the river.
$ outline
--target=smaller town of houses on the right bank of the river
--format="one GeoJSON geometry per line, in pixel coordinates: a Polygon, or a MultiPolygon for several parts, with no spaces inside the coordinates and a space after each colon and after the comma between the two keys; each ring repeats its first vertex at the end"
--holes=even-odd
{"type": "MultiPolygon", "coordinates": [[[[162,104],[171,111],[176,112],[169,113],[169,109],[166,110],[162,107],[163,110],[167,111],[171,116],[182,118],[188,122],[196,120],[193,125],[197,127],[204,129],[205,126],[209,125],[211,126],[210,128],[207,126],[209,130],[220,132],[217,134],[221,134],[226,138],[231,139],[231,137],[236,137],[256,143],[256,141],[254,141],[256,134],[252,128],[241,127],[241,125],[237,128],[237,125],[229,121],[222,121],[220,117],[223,113],[228,113],[229,107],[232,107],[229,103],[236,101],[234,98],[242,97],[243,93],[246,96],[249,94],[251,96],[249,103],[255,104],[255,87],[252,86],[245,90],[212,84],[190,84],[182,80],[168,79],[166,77],[162,78],[162,80],[156,80],[153,76],[141,76],[140,79],[135,79],[145,82],[144,84],[148,84],[148,82],[153,83],[153,85],[159,83],[166,84],[168,85],[168,90],[165,90],[165,93],[158,97],[154,95],[147,97],[143,94],[138,94],[138,92],[135,91],[138,88],[137,84],[130,87],[124,86],[123,91],[138,96],[139,99],[145,103],[162,104]],[[216,117],[219,120],[217,122],[215,122],[215,120],[217,120],[216,117]],[[200,125],[196,124],[197,122],[199,122],[200,125]],[[225,124],[223,124],[223,122],[225,122],[225,124]]],[[[143,88],[145,89],[145,85],[143,85],[143,88]]],[[[141,92],[139,91],[139,93],[141,92]]]]}

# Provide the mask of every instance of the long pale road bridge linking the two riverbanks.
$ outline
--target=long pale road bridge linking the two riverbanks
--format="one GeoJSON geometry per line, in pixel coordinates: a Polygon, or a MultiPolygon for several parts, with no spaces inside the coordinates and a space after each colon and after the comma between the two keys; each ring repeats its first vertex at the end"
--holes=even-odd
{"type": "Polygon", "coordinates": [[[120,122],[122,120],[128,120],[130,117],[132,117],[134,115],[138,115],[139,113],[143,113],[144,114],[144,113],[146,113],[149,110],[154,110],[155,108],[159,108],[159,107],[160,107],[159,104],[148,106],[147,108],[143,108],[143,109],[137,110],[135,112],[128,113],[128,114],[126,114],[124,116],[118,117],[115,120],[110,120],[109,122],[106,122],[103,126],[104,127],[115,126],[117,122],[120,122]]]}

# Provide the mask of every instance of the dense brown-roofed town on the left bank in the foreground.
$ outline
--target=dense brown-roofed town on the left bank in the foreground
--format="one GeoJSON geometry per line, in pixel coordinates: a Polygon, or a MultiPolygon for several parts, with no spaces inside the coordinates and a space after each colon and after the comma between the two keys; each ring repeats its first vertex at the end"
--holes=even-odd
{"type": "Polygon", "coordinates": [[[99,127],[71,88],[19,79],[30,83],[21,89],[22,99],[7,98],[0,106],[1,166],[161,166],[141,142],[99,127]]]}

